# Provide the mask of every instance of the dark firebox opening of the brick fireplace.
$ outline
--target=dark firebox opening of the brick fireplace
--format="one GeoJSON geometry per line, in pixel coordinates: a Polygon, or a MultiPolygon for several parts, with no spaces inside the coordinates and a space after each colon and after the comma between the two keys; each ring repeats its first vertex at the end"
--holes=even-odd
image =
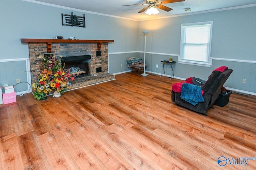
{"type": "Polygon", "coordinates": [[[70,69],[70,74],[76,75],[76,78],[90,76],[91,55],[62,57],[61,63],[62,66],[65,63],[64,70],[70,69]]]}

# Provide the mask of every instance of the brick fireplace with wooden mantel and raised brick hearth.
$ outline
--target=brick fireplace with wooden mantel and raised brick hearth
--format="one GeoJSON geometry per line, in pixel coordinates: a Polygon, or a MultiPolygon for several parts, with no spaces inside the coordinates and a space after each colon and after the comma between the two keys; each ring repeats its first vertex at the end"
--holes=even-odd
{"type": "Polygon", "coordinates": [[[38,61],[40,61],[38,58],[38,53],[46,54],[49,53],[49,51],[58,57],[73,57],[82,55],[91,56],[89,68],[90,75],[83,78],[76,78],[76,80],[71,82],[71,89],[115,79],[114,75],[108,74],[108,43],[104,42],[112,42],[112,40],[103,40],[103,43],[99,43],[97,40],[91,40],[93,42],[87,42],[90,40],[67,41],[56,39],[48,40],[49,42],[53,42],[49,43],[47,41],[46,43],[46,41],[41,42],[40,40],[47,39],[21,39],[21,42],[28,43],[30,70],[32,72],[31,82],[35,81],[35,75],[38,72],[38,61]]]}

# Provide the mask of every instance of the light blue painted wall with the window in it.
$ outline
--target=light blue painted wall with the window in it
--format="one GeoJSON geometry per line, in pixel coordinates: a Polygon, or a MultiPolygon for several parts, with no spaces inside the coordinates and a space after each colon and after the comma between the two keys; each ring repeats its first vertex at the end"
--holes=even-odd
{"type": "MultiPolygon", "coordinates": [[[[240,8],[219,12],[209,12],[174,18],[164,18],[150,21],[140,21],[138,30],[150,30],[146,39],[146,63],[154,72],[156,64],[169,59],[169,55],[180,54],[180,31],[182,23],[213,21],[212,29],[212,66],[194,66],[176,63],[175,76],[186,79],[196,76],[207,80],[208,76],[218,66],[226,65],[234,72],[224,84],[226,87],[256,92],[256,7],[240,8]],[[153,38],[153,40],[151,39],[153,38]],[[151,41],[152,40],[152,41],[151,41]],[[155,55],[150,53],[164,53],[155,55]],[[152,60],[154,59],[154,60],[152,60]],[[246,78],[246,83],[242,79],[246,78]]],[[[142,34],[142,33],[141,33],[142,34]]],[[[138,39],[138,49],[143,51],[143,35],[138,39]]],[[[172,57],[178,61],[178,57],[172,57]]],[[[166,68],[171,75],[170,66],[166,68]]],[[[162,68],[156,70],[162,73],[162,68]]]]}

